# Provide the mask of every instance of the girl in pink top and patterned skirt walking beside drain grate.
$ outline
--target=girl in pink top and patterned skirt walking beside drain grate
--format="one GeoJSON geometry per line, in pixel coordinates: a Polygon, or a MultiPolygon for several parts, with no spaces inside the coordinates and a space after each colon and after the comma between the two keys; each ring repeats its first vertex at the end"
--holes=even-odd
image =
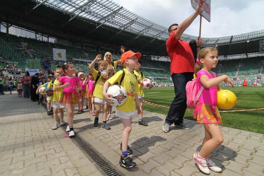
{"type": "Polygon", "coordinates": [[[75,104],[79,103],[79,97],[77,92],[81,90],[80,80],[75,75],[75,69],[73,64],[67,63],[62,65],[63,73],[66,76],[59,78],[59,83],[56,85],[55,90],[61,90],[63,88],[63,93],[59,99],[60,103],[65,103],[68,126],[66,131],[69,131],[69,137],[74,136],[73,131],[73,112],[75,104]]]}

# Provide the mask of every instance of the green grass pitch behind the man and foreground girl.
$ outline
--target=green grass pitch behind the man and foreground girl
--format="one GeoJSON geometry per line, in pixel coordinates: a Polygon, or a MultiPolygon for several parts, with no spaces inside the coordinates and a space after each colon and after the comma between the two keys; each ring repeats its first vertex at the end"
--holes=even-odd
{"type": "MultiPolygon", "coordinates": [[[[230,110],[244,110],[264,108],[264,88],[263,87],[221,87],[221,89],[231,90],[237,96],[237,105],[230,110]]],[[[174,99],[174,88],[153,87],[144,90],[144,100],[151,103],[169,107],[174,99]]],[[[169,109],[143,103],[143,109],[167,115],[169,109]]],[[[191,108],[187,108],[191,109],[191,108]]],[[[222,109],[219,109],[220,111],[222,109]]],[[[224,111],[224,110],[223,110],[224,111]]],[[[236,128],[240,130],[252,131],[264,134],[264,110],[244,111],[244,112],[220,112],[223,123],[222,126],[236,128]]],[[[184,118],[195,120],[193,112],[187,111],[184,118]]]]}

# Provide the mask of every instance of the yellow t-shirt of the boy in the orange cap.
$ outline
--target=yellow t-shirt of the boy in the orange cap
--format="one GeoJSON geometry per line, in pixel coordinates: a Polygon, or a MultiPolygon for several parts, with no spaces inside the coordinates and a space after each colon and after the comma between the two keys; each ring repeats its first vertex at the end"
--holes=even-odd
{"type": "MultiPolygon", "coordinates": [[[[134,94],[137,94],[139,92],[139,86],[137,86],[138,81],[136,80],[136,77],[133,73],[128,72],[127,69],[124,69],[124,71],[125,71],[125,77],[120,86],[125,88],[127,92],[127,96],[125,103],[122,106],[118,106],[117,109],[125,112],[133,112],[136,107],[134,94]]],[[[123,71],[120,70],[107,81],[112,85],[116,82],[120,82],[122,74],[123,71]]]]}

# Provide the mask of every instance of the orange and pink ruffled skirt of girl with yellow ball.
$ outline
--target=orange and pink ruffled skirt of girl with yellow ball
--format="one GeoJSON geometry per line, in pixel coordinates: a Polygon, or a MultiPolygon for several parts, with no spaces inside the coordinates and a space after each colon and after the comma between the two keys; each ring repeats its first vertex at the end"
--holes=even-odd
{"type": "Polygon", "coordinates": [[[222,118],[216,106],[199,102],[194,110],[193,118],[195,118],[198,123],[202,124],[222,123],[222,118]]]}

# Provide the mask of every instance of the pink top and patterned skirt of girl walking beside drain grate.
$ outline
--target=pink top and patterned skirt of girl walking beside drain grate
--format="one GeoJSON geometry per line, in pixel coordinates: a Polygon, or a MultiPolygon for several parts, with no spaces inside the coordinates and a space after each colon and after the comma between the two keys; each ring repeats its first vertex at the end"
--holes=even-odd
{"type": "Polygon", "coordinates": [[[59,99],[60,103],[73,103],[79,104],[79,97],[76,92],[77,83],[80,82],[78,77],[68,78],[66,76],[60,77],[59,81],[63,84],[70,83],[70,86],[63,88],[63,93],[59,99]]]}

